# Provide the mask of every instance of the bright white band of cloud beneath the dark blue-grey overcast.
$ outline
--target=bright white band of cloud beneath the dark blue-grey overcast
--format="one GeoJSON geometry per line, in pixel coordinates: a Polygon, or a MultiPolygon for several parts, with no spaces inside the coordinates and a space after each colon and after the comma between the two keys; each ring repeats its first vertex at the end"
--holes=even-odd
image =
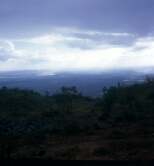
{"type": "MultiPolygon", "coordinates": [[[[103,34],[72,29],[28,39],[0,41],[0,70],[107,70],[154,66],[154,37],[134,39],[131,46],[98,42],[89,37],[100,33],[103,34]],[[80,37],[83,34],[88,36],[80,37]]],[[[115,36],[117,40],[131,37],[128,33],[103,35],[115,36]]]]}

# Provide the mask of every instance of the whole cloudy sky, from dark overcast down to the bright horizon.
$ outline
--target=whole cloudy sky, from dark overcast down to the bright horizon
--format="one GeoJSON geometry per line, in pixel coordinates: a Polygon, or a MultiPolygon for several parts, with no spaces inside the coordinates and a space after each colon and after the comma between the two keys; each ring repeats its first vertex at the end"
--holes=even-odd
{"type": "Polygon", "coordinates": [[[0,0],[0,71],[154,68],[154,0],[0,0]]]}

